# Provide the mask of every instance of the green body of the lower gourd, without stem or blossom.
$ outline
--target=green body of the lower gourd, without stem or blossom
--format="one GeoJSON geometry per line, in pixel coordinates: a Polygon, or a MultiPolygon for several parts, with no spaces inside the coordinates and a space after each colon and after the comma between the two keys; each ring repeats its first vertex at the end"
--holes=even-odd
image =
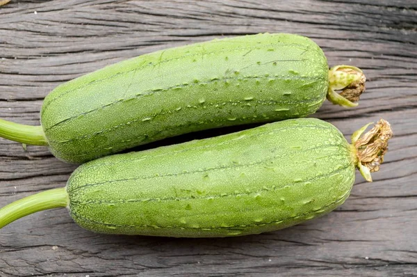
{"type": "Polygon", "coordinates": [[[351,145],[299,118],[211,139],[104,157],[67,184],[70,214],[94,232],[224,237],[332,211],[354,183],[351,145]]]}

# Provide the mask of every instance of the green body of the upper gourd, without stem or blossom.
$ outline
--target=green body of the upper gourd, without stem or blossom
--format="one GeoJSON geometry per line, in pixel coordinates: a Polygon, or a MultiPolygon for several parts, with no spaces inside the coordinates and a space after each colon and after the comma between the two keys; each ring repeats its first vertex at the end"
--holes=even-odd
{"type": "Polygon", "coordinates": [[[51,152],[81,163],[201,129],[307,116],[325,100],[327,75],[320,47],[300,35],[213,40],[58,86],[41,123],[51,152]]]}

